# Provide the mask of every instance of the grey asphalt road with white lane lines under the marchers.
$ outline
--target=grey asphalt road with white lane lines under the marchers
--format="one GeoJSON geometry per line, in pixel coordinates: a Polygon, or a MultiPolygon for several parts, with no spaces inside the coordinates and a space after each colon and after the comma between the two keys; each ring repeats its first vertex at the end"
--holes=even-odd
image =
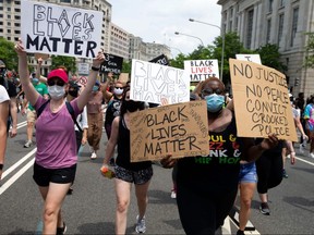
{"type": "MultiPolygon", "coordinates": [[[[26,139],[25,118],[19,116],[19,135],[9,139],[4,173],[0,187],[0,234],[38,234],[43,227],[43,200],[33,182],[36,146],[23,148],[26,139]]],[[[106,147],[104,133],[96,160],[89,159],[86,146],[78,158],[73,195],[65,198],[63,214],[67,234],[113,234],[116,196],[113,180],[99,173],[106,147]]],[[[298,148],[295,148],[298,150],[298,148]]],[[[255,194],[251,222],[256,231],[246,234],[314,234],[314,159],[297,151],[295,165],[287,164],[289,178],[269,190],[270,215],[258,211],[255,194]]],[[[184,234],[176,200],[170,198],[171,170],[154,165],[146,213],[147,234],[184,234]]],[[[235,206],[238,206],[238,201],[235,206]]],[[[128,212],[128,234],[134,234],[137,214],[134,188],[128,212]]],[[[237,226],[227,220],[217,234],[234,234],[237,226]]]]}

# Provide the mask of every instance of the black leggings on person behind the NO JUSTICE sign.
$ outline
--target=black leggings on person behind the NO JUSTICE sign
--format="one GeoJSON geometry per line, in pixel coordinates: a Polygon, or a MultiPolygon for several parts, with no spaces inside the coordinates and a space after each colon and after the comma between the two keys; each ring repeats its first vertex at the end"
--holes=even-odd
{"type": "Polygon", "coordinates": [[[265,153],[256,161],[258,194],[266,194],[269,188],[278,186],[282,181],[281,152],[265,153]]]}

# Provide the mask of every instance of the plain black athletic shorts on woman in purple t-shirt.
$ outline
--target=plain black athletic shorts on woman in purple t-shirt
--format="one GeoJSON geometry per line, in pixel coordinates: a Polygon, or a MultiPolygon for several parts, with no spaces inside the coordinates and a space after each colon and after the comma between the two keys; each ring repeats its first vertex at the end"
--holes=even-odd
{"type": "Polygon", "coordinates": [[[73,184],[75,173],[76,164],[70,168],[46,169],[35,162],[33,178],[35,183],[40,187],[49,186],[50,182],[56,184],[73,184]]]}

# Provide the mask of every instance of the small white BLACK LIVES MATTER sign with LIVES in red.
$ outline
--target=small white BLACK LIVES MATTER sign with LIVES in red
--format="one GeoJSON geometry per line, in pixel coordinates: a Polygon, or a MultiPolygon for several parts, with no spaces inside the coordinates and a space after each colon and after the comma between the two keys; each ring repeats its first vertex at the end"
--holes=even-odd
{"type": "Polygon", "coordinates": [[[208,77],[219,78],[218,60],[184,61],[184,70],[189,73],[190,82],[201,82],[208,77]]]}

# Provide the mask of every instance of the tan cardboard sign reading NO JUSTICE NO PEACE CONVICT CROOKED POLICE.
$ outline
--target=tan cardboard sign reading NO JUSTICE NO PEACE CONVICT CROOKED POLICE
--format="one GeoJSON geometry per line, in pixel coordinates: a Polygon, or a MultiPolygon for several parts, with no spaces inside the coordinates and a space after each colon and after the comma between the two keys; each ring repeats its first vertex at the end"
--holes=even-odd
{"type": "Polygon", "coordinates": [[[257,63],[229,59],[238,136],[295,141],[286,76],[257,63]]]}

